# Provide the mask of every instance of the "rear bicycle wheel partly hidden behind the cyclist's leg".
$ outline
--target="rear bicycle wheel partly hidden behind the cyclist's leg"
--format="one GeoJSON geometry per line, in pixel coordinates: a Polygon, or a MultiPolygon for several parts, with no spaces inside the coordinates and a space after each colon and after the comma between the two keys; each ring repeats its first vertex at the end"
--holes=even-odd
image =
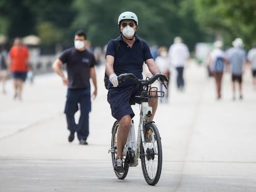
{"type": "MultiPolygon", "coordinates": [[[[114,161],[116,159],[116,151],[117,151],[117,146],[116,146],[116,141],[117,141],[117,130],[119,128],[119,123],[116,121],[114,122],[113,128],[112,128],[112,136],[111,136],[111,149],[114,149],[113,152],[111,152],[111,157],[112,157],[112,164],[113,164],[113,168],[114,168],[114,161]]],[[[129,170],[129,163],[126,160],[126,156],[123,156],[123,159],[125,159],[125,161],[123,162],[123,166],[124,166],[124,172],[123,173],[116,173],[116,177],[124,180],[124,178],[126,178],[128,170],[129,170]]]]}

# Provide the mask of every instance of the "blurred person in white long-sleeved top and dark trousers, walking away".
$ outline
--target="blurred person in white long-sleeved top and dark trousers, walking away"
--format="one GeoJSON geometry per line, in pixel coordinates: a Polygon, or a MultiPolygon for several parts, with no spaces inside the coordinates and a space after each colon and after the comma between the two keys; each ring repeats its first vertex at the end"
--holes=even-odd
{"type": "Polygon", "coordinates": [[[182,38],[177,36],[174,38],[174,43],[169,48],[169,59],[173,67],[177,70],[177,88],[183,90],[185,86],[183,73],[187,59],[189,59],[189,49],[187,45],[182,43],[182,38]]]}

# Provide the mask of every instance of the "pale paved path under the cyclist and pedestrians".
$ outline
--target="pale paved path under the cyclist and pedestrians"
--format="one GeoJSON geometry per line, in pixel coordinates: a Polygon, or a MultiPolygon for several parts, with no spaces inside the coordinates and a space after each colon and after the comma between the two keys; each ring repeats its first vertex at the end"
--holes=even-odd
{"type": "Polygon", "coordinates": [[[114,119],[103,69],[97,74],[88,146],[67,142],[66,87],[57,75],[26,83],[21,102],[13,100],[7,82],[7,95],[0,93],[0,191],[256,191],[256,91],[249,70],[242,101],[231,99],[229,74],[223,99],[216,101],[204,67],[187,67],[183,93],[173,73],[169,104],[159,104],[155,117],[164,155],[156,186],[147,185],[140,165],[125,180],[115,177],[108,154],[114,119]]]}

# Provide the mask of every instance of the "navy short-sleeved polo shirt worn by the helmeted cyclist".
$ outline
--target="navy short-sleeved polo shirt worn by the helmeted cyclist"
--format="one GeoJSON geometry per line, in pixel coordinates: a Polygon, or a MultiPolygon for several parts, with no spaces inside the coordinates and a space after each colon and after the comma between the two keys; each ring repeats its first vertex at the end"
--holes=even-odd
{"type": "MultiPolygon", "coordinates": [[[[114,57],[114,73],[116,73],[117,76],[122,73],[133,73],[137,78],[142,79],[143,63],[148,59],[153,59],[147,42],[139,40],[139,38],[135,36],[135,43],[132,48],[130,48],[122,40],[121,35],[118,37],[118,41],[119,48],[117,49],[117,52],[114,40],[110,40],[108,42],[106,49],[106,56],[111,55],[114,57]],[[143,43],[143,47],[140,41],[143,43]]],[[[132,81],[125,81],[123,83],[119,83],[118,87],[122,88],[130,85],[134,85],[134,83],[132,81]]],[[[108,87],[112,88],[110,82],[108,87]]]]}

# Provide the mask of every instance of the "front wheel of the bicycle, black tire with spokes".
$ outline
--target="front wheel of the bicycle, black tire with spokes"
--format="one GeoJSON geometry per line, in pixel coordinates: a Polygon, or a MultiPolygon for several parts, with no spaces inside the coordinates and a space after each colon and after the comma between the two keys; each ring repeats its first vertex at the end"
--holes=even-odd
{"type": "Polygon", "coordinates": [[[162,169],[161,138],[155,123],[148,123],[144,128],[145,132],[142,136],[145,138],[146,151],[144,151],[142,143],[140,144],[142,171],[148,185],[156,185],[162,169]]]}

